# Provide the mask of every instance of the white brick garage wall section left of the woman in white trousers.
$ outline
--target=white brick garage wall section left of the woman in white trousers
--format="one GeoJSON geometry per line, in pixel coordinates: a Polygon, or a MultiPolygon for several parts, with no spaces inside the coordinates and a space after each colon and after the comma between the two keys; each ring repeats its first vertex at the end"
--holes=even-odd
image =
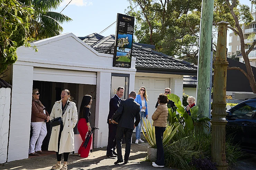
{"type": "Polygon", "coordinates": [[[33,67],[14,64],[8,162],[28,158],[32,84],[33,67]]]}

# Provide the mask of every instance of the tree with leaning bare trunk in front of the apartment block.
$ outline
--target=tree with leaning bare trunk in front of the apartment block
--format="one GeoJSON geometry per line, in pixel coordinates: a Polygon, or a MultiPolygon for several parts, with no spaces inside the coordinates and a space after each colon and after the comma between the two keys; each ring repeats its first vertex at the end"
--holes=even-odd
{"type": "Polygon", "coordinates": [[[228,70],[235,69],[241,71],[249,80],[253,93],[256,93],[256,83],[248,57],[248,54],[254,48],[256,41],[251,44],[251,47],[248,49],[248,51],[245,51],[244,34],[241,29],[241,25],[239,24],[240,21],[244,22],[244,24],[248,26],[253,21],[252,14],[250,13],[250,8],[247,5],[239,4],[239,1],[237,0],[216,0],[214,1],[214,3],[216,3],[214,7],[214,24],[220,21],[228,21],[228,28],[234,31],[234,33],[240,37],[241,54],[245,61],[246,71],[239,67],[228,67],[228,70]]]}

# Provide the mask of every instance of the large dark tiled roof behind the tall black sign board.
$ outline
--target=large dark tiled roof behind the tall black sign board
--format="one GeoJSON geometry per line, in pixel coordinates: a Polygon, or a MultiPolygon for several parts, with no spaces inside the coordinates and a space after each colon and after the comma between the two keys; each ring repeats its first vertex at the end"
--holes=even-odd
{"type": "MultiPolygon", "coordinates": [[[[92,34],[91,34],[92,35],[92,34]]],[[[104,37],[94,44],[91,44],[97,34],[91,36],[89,39],[84,41],[90,45],[94,50],[100,53],[114,53],[115,35],[104,37]]],[[[86,36],[89,37],[89,36],[86,36]]],[[[192,75],[197,74],[197,66],[193,63],[183,61],[161,52],[152,50],[154,45],[149,44],[132,44],[132,57],[136,58],[136,69],[137,72],[148,72],[148,73],[165,73],[165,74],[180,74],[180,75],[192,75]]]]}

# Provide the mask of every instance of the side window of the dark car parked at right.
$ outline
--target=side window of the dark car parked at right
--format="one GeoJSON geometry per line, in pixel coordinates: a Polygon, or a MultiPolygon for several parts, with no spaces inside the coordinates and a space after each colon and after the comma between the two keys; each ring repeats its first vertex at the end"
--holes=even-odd
{"type": "Polygon", "coordinates": [[[232,110],[233,118],[253,119],[256,112],[256,102],[243,103],[235,106],[232,110]]]}

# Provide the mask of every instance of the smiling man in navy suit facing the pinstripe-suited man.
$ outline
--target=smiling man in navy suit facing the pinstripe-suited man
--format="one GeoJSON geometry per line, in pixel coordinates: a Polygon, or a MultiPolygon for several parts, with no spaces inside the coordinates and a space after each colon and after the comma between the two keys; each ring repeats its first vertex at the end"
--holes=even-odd
{"type": "Polygon", "coordinates": [[[125,91],[124,87],[118,87],[117,93],[109,101],[109,114],[108,114],[108,146],[107,146],[107,156],[114,158],[117,157],[116,149],[116,133],[117,133],[117,124],[112,122],[112,116],[117,111],[120,106],[121,97],[125,91]]]}

